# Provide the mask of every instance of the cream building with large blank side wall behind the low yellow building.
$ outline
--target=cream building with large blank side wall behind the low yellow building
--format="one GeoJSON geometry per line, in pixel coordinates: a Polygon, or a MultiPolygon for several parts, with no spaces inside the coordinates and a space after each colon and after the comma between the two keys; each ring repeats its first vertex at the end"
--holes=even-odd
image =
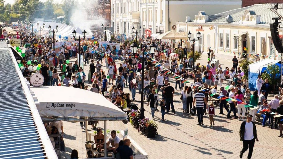
{"type": "Polygon", "coordinates": [[[142,33],[150,29],[152,34],[162,34],[170,31],[175,22],[184,22],[184,16],[193,17],[199,10],[217,14],[241,8],[241,4],[241,0],[141,0],[142,33]]]}

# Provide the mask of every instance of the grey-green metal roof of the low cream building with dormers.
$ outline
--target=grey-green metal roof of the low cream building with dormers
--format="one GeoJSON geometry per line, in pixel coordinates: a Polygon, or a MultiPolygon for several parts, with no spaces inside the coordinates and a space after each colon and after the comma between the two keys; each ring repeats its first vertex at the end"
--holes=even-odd
{"type": "MultiPolygon", "coordinates": [[[[230,14],[233,17],[233,22],[230,24],[239,24],[240,16],[248,10],[251,14],[260,15],[260,24],[257,25],[269,25],[273,23],[273,17],[278,17],[269,9],[269,4],[254,4],[252,6],[229,10],[223,13],[209,15],[209,21],[207,23],[226,23],[226,17],[230,14]]],[[[277,9],[277,13],[283,15],[283,9],[277,9]]],[[[193,23],[193,22],[192,22],[193,23]]]]}

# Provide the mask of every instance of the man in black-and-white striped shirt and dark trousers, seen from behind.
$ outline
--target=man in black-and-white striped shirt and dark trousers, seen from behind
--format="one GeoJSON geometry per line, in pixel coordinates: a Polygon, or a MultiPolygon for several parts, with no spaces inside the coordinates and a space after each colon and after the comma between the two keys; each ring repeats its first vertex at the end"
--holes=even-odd
{"type": "Polygon", "coordinates": [[[203,107],[206,105],[207,107],[207,100],[205,98],[205,95],[201,91],[202,88],[198,88],[198,92],[194,96],[193,106],[197,107],[197,120],[198,125],[203,124],[203,107]]]}

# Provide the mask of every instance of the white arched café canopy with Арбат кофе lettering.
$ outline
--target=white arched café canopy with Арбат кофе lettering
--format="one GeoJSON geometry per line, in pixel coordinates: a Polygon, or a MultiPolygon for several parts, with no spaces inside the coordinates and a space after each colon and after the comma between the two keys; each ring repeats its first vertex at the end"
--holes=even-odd
{"type": "MultiPolygon", "coordinates": [[[[36,107],[42,119],[79,121],[72,117],[88,117],[87,120],[122,120],[125,112],[104,98],[101,94],[65,86],[32,87],[31,93],[37,98],[36,107]],[[64,92],[75,92],[64,95],[64,92]],[[46,95],[52,94],[52,98],[46,95]]],[[[54,121],[53,120],[53,121],[54,121]]]]}

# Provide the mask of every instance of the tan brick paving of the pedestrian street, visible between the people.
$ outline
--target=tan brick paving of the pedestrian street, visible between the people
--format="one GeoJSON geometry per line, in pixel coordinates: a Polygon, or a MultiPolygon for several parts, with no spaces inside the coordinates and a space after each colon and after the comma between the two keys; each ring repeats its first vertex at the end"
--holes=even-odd
{"type": "MultiPolygon", "coordinates": [[[[200,62],[201,65],[207,63],[206,55],[203,55],[200,62]]],[[[74,59],[71,59],[71,62],[74,59]]],[[[220,59],[222,68],[232,67],[231,60],[220,59]]],[[[115,61],[117,66],[119,62],[115,61]]],[[[105,65],[104,65],[105,66],[105,65]]],[[[88,74],[87,65],[84,66],[84,72],[88,74]]],[[[118,68],[118,67],[117,67],[118,68]]],[[[104,70],[105,67],[103,67],[104,70]]],[[[175,86],[175,82],[170,78],[170,83],[175,86]]],[[[86,84],[89,85],[90,84],[86,84]]],[[[90,88],[90,87],[89,87],[90,88]]],[[[129,92],[128,88],[124,92],[129,92]]],[[[130,93],[130,92],[129,92],[130,93]]],[[[131,93],[130,93],[131,94],[131,93]]],[[[160,93],[159,93],[160,95],[160,93]]],[[[268,98],[269,100],[272,97],[268,98]]],[[[140,106],[141,95],[136,93],[136,101],[133,102],[140,106]]],[[[239,158],[239,153],[242,148],[242,142],[239,137],[239,129],[242,121],[234,118],[226,118],[226,112],[219,114],[219,107],[216,107],[216,115],[214,116],[215,126],[210,127],[208,116],[204,116],[203,126],[197,125],[197,117],[187,115],[182,112],[182,103],[180,101],[180,90],[177,90],[174,96],[174,106],[176,114],[165,114],[165,121],[161,121],[161,112],[155,112],[155,121],[158,124],[158,136],[153,139],[148,139],[138,133],[130,123],[124,124],[121,121],[107,122],[107,129],[121,130],[128,128],[129,135],[135,142],[147,152],[150,158],[153,159],[169,159],[169,158],[239,158]]],[[[151,118],[150,107],[145,106],[145,117],[151,118]]],[[[252,158],[283,158],[283,138],[279,135],[278,129],[270,129],[262,127],[261,123],[256,122],[258,140],[253,149],[252,158]]],[[[104,123],[99,122],[97,127],[104,128],[104,123]]],[[[89,131],[93,131],[89,129],[89,131]]],[[[85,158],[85,130],[80,128],[80,123],[64,122],[64,141],[66,152],[62,153],[62,158],[70,158],[70,153],[73,149],[78,150],[79,158],[85,158]]],[[[93,140],[93,139],[92,139],[93,140]]],[[[246,152],[243,158],[247,158],[246,152]]]]}

